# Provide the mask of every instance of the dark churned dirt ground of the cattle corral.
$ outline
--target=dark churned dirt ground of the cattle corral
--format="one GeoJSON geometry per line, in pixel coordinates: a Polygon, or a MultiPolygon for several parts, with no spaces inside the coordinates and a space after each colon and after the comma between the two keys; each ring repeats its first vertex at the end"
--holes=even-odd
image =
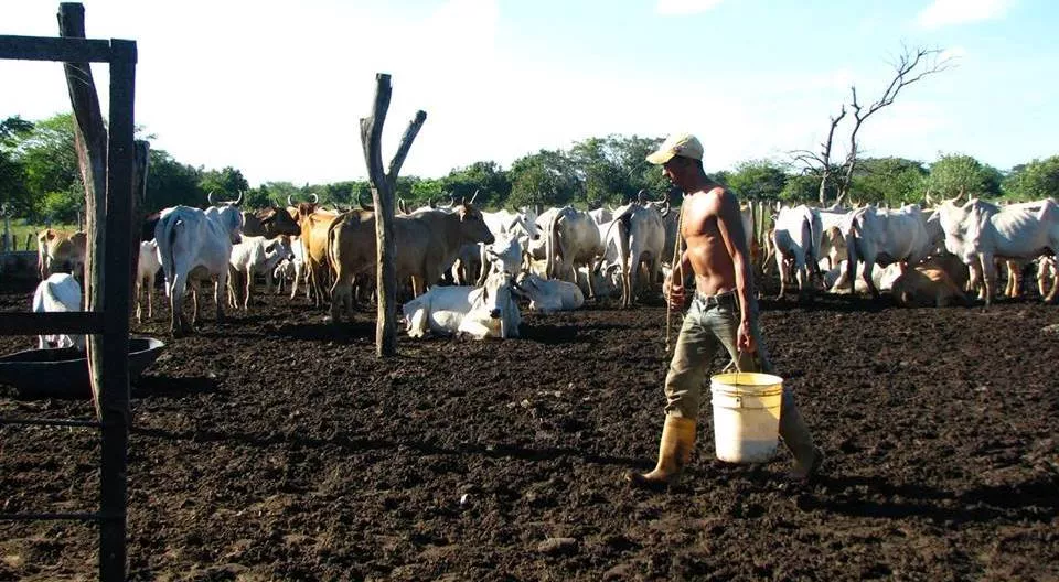
{"type": "MultiPolygon", "coordinates": [[[[3,289],[0,309],[30,293],[3,289]]],[[[265,298],[222,327],[207,311],[133,386],[130,575],[1059,578],[1059,309],[763,308],[824,475],[785,487],[785,452],[715,461],[707,405],[666,494],[621,483],[657,452],[661,305],[526,314],[505,342],[402,337],[389,360],[368,313],[335,330],[303,299],[265,298]]],[[[135,328],[169,342],[161,317],[135,328]]],[[[0,353],[32,346],[0,337],[0,353]]],[[[92,414],[0,395],[0,416],[92,414]]],[[[97,506],[96,432],[0,438],[4,513],[97,506]]],[[[0,580],[94,578],[96,551],[88,526],[0,521],[0,580]]]]}

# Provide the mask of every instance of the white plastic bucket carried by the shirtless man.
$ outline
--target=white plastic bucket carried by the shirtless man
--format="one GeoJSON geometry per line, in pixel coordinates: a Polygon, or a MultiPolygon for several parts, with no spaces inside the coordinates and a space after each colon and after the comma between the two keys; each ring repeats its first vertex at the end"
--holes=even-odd
{"type": "Polygon", "coordinates": [[[740,371],[709,379],[717,459],[760,463],[775,454],[780,434],[783,378],[740,371]]]}

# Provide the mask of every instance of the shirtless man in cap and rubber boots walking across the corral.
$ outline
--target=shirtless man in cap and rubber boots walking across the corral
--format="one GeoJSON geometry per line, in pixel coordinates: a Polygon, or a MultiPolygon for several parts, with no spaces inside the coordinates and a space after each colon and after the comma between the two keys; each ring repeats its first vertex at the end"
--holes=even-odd
{"type": "MultiPolygon", "coordinates": [[[[692,305],[676,341],[665,378],[665,423],[654,471],[629,473],[637,487],[664,488],[680,477],[695,445],[695,423],[709,366],[724,347],[741,371],[772,371],[758,331],[758,309],[750,277],[739,203],[703,171],[703,146],[686,133],[671,136],[648,161],[685,192],[681,236],[687,248],[666,279],[663,292],[674,309],[687,304],[683,273],[695,273],[692,305]]],[[[820,467],[823,452],[802,420],[793,395],[784,388],[780,436],[794,454],[792,478],[805,481],[820,467]]]]}

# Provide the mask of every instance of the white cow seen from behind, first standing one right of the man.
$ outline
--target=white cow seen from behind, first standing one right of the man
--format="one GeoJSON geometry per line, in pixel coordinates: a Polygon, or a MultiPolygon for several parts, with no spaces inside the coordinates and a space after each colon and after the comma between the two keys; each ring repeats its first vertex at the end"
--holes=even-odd
{"type": "Polygon", "coordinates": [[[788,267],[794,270],[799,294],[805,297],[810,293],[812,285],[809,277],[817,270],[822,236],[823,226],[815,208],[800,204],[780,209],[772,231],[772,248],[780,270],[781,298],[787,293],[790,281],[788,267]]]}

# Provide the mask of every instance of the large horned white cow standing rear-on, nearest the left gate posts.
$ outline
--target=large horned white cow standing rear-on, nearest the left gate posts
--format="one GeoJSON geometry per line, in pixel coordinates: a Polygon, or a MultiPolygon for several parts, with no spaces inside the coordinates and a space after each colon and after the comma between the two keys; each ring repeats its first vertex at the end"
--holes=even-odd
{"type": "Polygon", "coordinates": [[[214,288],[217,322],[224,321],[228,258],[243,230],[243,214],[235,204],[211,206],[205,211],[189,206],[167,208],[154,227],[154,239],[165,271],[165,294],[172,311],[170,332],[174,337],[189,331],[182,312],[189,282],[192,283],[195,306],[191,325],[199,320],[199,280],[212,277],[217,278],[214,288]]]}

